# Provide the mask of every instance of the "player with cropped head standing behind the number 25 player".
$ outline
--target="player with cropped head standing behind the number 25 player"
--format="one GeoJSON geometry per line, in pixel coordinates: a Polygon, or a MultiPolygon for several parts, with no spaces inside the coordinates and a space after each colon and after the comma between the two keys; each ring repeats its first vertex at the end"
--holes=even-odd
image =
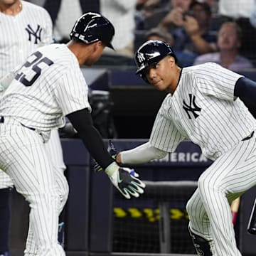
{"type": "MultiPolygon", "coordinates": [[[[45,9],[19,0],[0,0],[0,20],[0,78],[4,78],[18,64],[23,63],[36,48],[53,43],[53,25],[45,9]]],[[[8,85],[9,82],[1,82],[1,95],[8,85]]],[[[64,205],[68,198],[68,183],[62,175],[65,164],[57,129],[53,130],[46,147],[50,156],[53,156],[58,188],[64,205]]],[[[0,255],[4,256],[9,256],[10,188],[12,186],[11,178],[4,171],[0,171],[0,255]]],[[[28,239],[27,253],[36,250],[30,231],[31,229],[28,232],[31,239],[28,239]]]]}

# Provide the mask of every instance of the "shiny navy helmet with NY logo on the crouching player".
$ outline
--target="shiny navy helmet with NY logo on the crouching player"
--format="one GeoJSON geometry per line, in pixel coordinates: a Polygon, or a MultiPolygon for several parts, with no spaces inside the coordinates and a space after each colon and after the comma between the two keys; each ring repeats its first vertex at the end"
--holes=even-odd
{"type": "Polygon", "coordinates": [[[171,46],[169,46],[167,43],[160,40],[146,41],[135,53],[135,62],[137,64],[136,73],[141,75],[142,78],[148,82],[144,75],[144,69],[149,65],[158,63],[167,55],[173,56],[175,62],[177,62],[174,50],[172,50],[171,46]]]}

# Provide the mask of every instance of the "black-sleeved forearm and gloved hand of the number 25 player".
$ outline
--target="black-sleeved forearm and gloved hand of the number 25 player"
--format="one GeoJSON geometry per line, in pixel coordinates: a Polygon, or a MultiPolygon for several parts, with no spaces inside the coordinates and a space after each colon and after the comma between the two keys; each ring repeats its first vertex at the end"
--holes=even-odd
{"type": "Polygon", "coordinates": [[[108,154],[100,133],[95,129],[89,110],[83,109],[67,115],[90,155],[102,166],[110,181],[122,195],[129,199],[144,193],[144,183],[129,174],[130,169],[119,167],[108,154]]]}

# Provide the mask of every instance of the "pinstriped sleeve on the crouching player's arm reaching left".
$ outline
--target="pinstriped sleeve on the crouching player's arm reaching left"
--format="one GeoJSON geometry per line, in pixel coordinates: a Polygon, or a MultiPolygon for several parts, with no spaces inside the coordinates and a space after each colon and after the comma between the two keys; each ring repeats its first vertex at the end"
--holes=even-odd
{"type": "Polygon", "coordinates": [[[161,107],[151,131],[149,143],[151,146],[166,152],[174,152],[185,137],[178,131],[169,117],[166,117],[164,108],[161,107]]]}

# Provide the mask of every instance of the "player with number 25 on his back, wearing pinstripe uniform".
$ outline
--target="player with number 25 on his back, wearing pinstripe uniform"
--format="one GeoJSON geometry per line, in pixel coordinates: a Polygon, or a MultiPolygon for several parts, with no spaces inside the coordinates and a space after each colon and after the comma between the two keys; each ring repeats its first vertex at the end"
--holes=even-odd
{"type": "Polygon", "coordinates": [[[64,116],[125,198],[144,193],[144,183],[131,175],[131,169],[116,164],[93,127],[88,87],[80,70],[80,65],[95,63],[106,46],[112,48],[113,36],[107,18],[82,15],[70,33],[71,41],[38,48],[18,68],[0,100],[0,167],[31,207],[30,228],[37,251],[25,255],[65,255],[57,240],[63,202],[45,144],[52,129],[63,127],[64,116]]]}

